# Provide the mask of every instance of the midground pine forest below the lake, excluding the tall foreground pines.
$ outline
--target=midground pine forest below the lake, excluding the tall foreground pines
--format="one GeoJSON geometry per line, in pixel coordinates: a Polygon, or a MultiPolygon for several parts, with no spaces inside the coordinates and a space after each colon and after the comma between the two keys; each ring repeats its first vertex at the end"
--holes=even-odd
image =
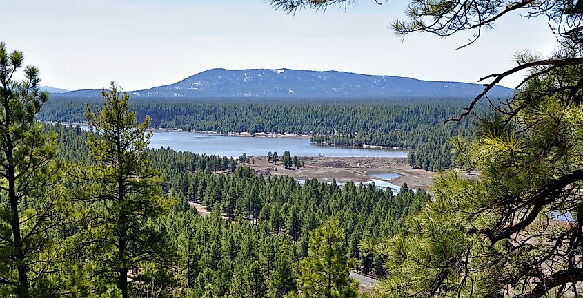
{"type": "MultiPolygon", "coordinates": [[[[92,164],[86,131],[64,125],[45,128],[57,136],[57,160],[92,164]]],[[[164,177],[164,193],[175,200],[148,225],[177,253],[168,255],[172,262],[165,268],[144,268],[137,276],[155,281],[152,287],[169,296],[246,297],[253,290],[258,297],[283,297],[297,288],[293,264],[308,256],[310,231],[330,218],[339,220],[342,246],[357,260],[351,269],[383,276],[382,257],[363,253],[359,243],[399,233],[405,217],[429,202],[427,193],[406,186],[396,196],[374,185],[347,183],[341,188],[308,180],[302,186],[290,177],[255,175],[230,158],[172,149],[145,154],[149,167],[164,177]],[[189,202],[206,206],[210,215],[201,217],[189,202]]],[[[132,288],[135,293],[149,290],[132,288]]]]}

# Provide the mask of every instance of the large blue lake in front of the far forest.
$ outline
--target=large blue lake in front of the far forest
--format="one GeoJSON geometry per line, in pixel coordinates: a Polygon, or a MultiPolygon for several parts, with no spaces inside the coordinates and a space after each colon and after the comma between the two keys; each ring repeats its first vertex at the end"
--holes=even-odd
{"type": "Polygon", "coordinates": [[[150,139],[150,148],[160,147],[233,157],[243,153],[248,156],[266,156],[268,151],[277,152],[279,156],[284,151],[290,151],[292,156],[319,156],[322,153],[333,157],[404,158],[408,154],[408,151],[394,149],[322,147],[311,144],[308,138],[226,136],[188,131],[155,131],[150,139]]]}

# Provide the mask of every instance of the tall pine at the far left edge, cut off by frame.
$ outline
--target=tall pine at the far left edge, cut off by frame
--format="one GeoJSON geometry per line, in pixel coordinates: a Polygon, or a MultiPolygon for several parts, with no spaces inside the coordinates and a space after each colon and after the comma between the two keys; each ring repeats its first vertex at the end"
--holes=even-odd
{"type": "Polygon", "coordinates": [[[23,67],[22,52],[0,43],[0,296],[51,297],[52,244],[65,212],[55,189],[55,136],[34,119],[49,98],[39,69],[23,67]]]}

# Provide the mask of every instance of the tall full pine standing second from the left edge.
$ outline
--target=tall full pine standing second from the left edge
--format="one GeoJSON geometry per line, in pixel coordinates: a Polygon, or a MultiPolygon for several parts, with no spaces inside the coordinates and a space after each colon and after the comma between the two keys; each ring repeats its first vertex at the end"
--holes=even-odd
{"type": "Polygon", "coordinates": [[[82,188],[88,202],[85,235],[95,274],[112,281],[127,298],[133,281],[148,280],[148,269],[164,270],[173,259],[166,235],[148,223],[164,214],[172,201],[163,195],[162,178],[148,167],[144,153],[151,134],[146,131],[149,118],[137,123],[129,111],[130,97],[115,83],[110,91],[103,89],[102,96],[100,109],[86,111],[93,129],[88,145],[94,164],[86,170],[88,184],[82,188]]]}

